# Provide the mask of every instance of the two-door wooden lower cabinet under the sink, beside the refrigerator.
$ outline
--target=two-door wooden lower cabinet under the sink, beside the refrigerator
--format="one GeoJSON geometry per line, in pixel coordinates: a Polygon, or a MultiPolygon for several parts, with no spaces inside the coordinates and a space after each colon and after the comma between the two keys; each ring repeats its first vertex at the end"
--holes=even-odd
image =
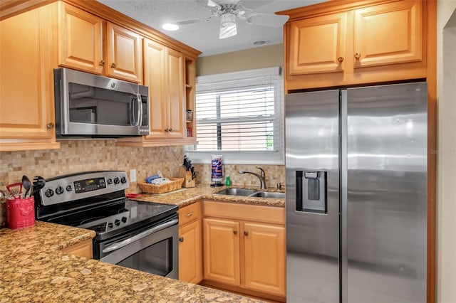
{"type": "Polygon", "coordinates": [[[284,208],[204,201],[203,215],[204,284],[283,301],[284,208]]]}

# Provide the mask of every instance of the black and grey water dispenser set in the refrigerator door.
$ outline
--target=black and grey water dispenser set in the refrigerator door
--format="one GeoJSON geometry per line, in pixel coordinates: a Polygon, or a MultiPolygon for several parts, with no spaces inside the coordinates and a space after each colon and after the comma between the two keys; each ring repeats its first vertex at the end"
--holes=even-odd
{"type": "Polygon", "coordinates": [[[326,171],[296,171],[296,211],[327,213],[326,171]]]}

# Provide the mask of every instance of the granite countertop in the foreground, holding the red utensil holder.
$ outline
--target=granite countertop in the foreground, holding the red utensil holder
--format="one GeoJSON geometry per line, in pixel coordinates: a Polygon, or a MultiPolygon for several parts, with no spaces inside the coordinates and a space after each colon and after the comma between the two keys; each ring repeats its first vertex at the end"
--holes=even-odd
{"type": "Polygon", "coordinates": [[[0,302],[260,302],[59,251],[92,230],[37,221],[0,229],[0,302]]]}

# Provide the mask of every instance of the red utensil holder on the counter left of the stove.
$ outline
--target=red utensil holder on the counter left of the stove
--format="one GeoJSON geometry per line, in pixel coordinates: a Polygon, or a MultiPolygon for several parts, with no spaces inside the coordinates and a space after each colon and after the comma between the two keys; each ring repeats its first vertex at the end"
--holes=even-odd
{"type": "Polygon", "coordinates": [[[35,225],[35,199],[32,197],[6,201],[8,227],[26,228],[35,225]]]}

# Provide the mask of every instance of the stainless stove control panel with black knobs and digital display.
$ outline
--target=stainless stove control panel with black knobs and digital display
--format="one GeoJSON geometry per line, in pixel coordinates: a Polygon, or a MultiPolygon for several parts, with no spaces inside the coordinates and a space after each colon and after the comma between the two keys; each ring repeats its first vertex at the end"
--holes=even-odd
{"type": "Polygon", "coordinates": [[[75,201],[128,188],[125,171],[90,171],[46,180],[39,193],[43,206],[75,201]]]}

